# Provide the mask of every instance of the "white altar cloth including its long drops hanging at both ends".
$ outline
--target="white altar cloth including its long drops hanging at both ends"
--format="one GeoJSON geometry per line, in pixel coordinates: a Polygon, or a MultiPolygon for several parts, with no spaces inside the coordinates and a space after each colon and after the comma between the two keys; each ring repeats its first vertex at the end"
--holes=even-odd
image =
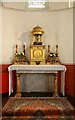
{"type": "Polygon", "coordinates": [[[57,73],[61,71],[61,93],[65,96],[65,71],[64,65],[10,65],[9,71],[9,95],[13,92],[12,71],[18,73],[57,73]]]}

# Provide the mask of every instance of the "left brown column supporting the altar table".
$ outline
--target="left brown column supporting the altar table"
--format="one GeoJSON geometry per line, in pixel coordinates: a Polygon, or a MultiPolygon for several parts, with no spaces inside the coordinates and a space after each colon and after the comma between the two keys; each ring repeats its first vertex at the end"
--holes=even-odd
{"type": "Polygon", "coordinates": [[[16,73],[16,95],[15,97],[21,97],[21,88],[20,88],[20,73],[16,73]]]}

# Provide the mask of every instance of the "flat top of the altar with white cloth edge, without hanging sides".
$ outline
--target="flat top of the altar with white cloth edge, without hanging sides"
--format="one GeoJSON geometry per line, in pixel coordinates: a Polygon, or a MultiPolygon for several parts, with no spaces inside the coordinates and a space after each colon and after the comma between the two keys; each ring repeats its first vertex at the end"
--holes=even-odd
{"type": "Polygon", "coordinates": [[[20,65],[14,64],[8,67],[8,71],[12,70],[56,70],[56,71],[66,71],[64,65],[20,65]]]}

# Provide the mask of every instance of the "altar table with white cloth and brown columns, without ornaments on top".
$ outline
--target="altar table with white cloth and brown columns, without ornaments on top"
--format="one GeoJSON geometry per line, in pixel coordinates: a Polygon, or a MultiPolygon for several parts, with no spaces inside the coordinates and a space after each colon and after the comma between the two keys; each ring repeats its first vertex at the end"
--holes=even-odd
{"type": "MultiPolygon", "coordinates": [[[[48,73],[54,74],[54,91],[53,96],[58,96],[58,72],[61,71],[61,93],[65,96],[65,72],[66,67],[64,65],[10,65],[9,71],[9,96],[13,92],[12,85],[12,71],[16,71],[16,97],[21,97],[20,89],[20,76],[25,73],[48,73]]],[[[36,81],[38,82],[38,81],[36,81]]],[[[33,83],[34,84],[34,83],[33,83]]]]}

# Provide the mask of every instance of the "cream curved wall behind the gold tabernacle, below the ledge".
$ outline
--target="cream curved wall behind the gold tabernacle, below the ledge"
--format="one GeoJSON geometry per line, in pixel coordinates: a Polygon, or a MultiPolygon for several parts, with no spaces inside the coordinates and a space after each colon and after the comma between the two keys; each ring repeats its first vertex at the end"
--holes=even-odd
{"type": "Polygon", "coordinates": [[[56,12],[25,12],[3,8],[3,46],[2,63],[9,64],[13,59],[16,43],[30,44],[32,28],[39,25],[45,31],[43,44],[50,44],[51,50],[59,45],[62,63],[73,63],[73,10],[56,12]]]}

